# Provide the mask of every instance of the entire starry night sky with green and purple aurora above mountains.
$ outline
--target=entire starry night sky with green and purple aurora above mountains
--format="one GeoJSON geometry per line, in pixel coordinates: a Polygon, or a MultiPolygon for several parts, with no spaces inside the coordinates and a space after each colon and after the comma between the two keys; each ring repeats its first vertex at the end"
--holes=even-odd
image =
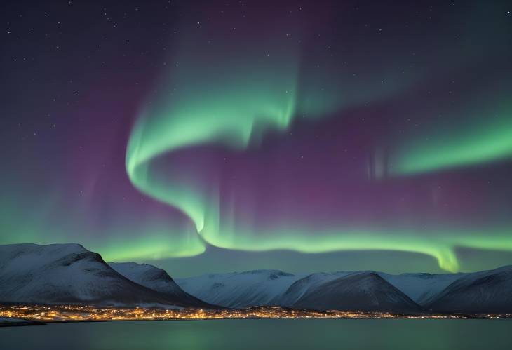
{"type": "Polygon", "coordinates": [[[4,1],[0,243],[172,276],[512,263],[509,1],[4,1]]]}

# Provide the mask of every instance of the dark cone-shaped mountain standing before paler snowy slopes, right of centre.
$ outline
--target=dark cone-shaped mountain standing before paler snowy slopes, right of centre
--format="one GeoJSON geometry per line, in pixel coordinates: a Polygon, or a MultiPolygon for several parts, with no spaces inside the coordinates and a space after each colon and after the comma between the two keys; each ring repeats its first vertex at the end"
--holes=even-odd
{"type": "Polygon", "coordinates": [[[372,271],[346,274],[314,286],[292,305],[302,309],[420,312],[422,307],[372,271]]]}

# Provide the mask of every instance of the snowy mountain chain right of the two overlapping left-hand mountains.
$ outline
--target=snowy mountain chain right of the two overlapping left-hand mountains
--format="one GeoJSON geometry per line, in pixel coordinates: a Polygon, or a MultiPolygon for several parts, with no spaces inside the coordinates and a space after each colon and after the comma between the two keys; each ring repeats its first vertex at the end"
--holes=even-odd
{"type": "Polygon", "coordinates": [[[255,270],[177,278],[176,283],[191,295],[224,307],[512,313],[512,266],[466,274],[255,270]]]}

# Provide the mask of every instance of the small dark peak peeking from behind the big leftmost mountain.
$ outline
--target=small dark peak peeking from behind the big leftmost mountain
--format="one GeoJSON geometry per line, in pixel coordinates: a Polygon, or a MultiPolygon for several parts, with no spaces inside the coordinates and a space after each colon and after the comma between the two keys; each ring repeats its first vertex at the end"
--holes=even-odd
{"type": "Polygon", "coordinates": [[[163,269],[150,264],[137,264],[136,262],[109,262],[109,266],[130,281],[144,285],[144,287],[151,290],[162,292],[168,297],[180,299],[197,307],[211,307],[206,302],[202,302],[184,292],[163,269]]]}

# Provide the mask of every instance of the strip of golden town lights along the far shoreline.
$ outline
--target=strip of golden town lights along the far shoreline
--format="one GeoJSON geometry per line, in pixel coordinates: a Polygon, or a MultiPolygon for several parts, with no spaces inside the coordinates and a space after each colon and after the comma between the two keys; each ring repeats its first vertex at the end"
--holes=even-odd
{"type": "Polygon", "coordinates": [[[282,307],[248,309],[157,309],[129,307],[93,307],[82,305],[0,305],[0,317],[32,321],[144,321],[208,320],[220,318],[511,318],[512,315],[464,316],[453,314],[403,315],[386,312],[313,311],[282,307]]]}

